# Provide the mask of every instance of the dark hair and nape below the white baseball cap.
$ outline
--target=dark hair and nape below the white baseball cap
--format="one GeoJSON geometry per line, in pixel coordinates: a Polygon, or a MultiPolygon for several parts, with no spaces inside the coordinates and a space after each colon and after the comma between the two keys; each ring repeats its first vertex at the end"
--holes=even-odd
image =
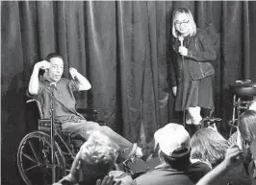
{"type": "MultiPolygon", "coordinates": [[[[173,153],[178,154],[186,151],[188,151],[187,148],[181,148],[178,150],[174,150],[173,153]]],[[[190,156],[191,156],[190,152],[180,157],[168,156],[163,151],[160,152],[160,155],[163,156],[163,159],[165,160],[165,162],[169,164],[172,169],[184,172],[190,165],[190,156]]]]}

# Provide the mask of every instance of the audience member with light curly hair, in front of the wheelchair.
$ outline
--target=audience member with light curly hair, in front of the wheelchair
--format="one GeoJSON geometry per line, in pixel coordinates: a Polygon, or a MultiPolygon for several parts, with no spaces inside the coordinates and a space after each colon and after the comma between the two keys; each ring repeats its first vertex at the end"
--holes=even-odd
{"type": "Polygon", "coordinates": [[[116,150],[108,136],[92,131],[87,142],[77,153],[70,173],[55,185],[73,182],[77,185],[94,185],[115,168],[116,150]]]}

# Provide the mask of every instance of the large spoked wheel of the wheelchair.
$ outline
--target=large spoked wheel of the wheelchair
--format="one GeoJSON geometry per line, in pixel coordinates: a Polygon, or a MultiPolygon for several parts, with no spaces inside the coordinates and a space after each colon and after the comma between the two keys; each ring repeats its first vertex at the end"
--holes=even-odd
{"type": "MultiPolygon", "coordinates": [[[[50,136],[41,131],[27,134],[17,152],[17,166],[23,180],[29,185],[52,184],[50,136]]],[[[55,143],[56,181],[64,176],[64,156],[55,143]]]]}

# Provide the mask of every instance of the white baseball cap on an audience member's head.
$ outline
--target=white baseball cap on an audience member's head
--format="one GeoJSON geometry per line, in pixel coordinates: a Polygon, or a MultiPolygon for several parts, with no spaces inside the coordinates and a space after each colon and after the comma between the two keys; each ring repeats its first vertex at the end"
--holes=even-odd
{"type": "Polygon", "coordinates": [[[185,127],[178,124],[167,124],[165,127],[158,129],[154,138],[156,143],[159,144],[160,150],[162,150],[167,156],[182,157],[190,152],[190,134],[185,127]],[[175,150],[182,150],[182,152],[175,152],[175,150]]]}

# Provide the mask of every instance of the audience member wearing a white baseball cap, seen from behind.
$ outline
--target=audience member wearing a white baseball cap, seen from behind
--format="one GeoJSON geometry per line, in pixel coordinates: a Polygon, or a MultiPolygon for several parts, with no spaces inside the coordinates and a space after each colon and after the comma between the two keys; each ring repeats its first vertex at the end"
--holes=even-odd
{"type": "MultiPolygon", "coordinates": [[[[137,185],[193,184],[190,173],[190,134],[181,125],[167,124],[154,134],[161,164],[135,179],[137,185]]],[[[198,171],[192,172],[198,175],[198,171]]],[[[201,173],[197,181],[205,173],[201,173]]]]}

